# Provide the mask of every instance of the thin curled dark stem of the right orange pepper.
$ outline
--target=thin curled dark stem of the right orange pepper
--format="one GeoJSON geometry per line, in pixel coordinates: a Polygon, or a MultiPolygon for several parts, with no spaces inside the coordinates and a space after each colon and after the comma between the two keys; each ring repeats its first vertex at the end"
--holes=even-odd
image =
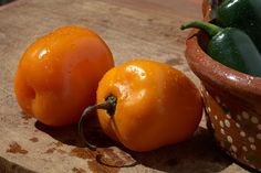
{"type": "Polygon", "coordinates": [[[83,111],[81,119],[79,121],[79,125],[77,125],[77,130],[79,130],[80,138],[84,141],[84,143],[87,145],[88,149],[96,150],[96,145],[91,144],[84,136],[84,123],[85,123],[87,117],[90,116],[90,113],[92,111],[97,110],[97,109],[107,110],[107,113],[109,116],[113,116],[115,112],[116,104],[117,104],[117,98],[115,96],[111,95],[105,99],[104,102],[101,102],[101,104],[97,104],[94,106],[90,106],[83,111]]]}

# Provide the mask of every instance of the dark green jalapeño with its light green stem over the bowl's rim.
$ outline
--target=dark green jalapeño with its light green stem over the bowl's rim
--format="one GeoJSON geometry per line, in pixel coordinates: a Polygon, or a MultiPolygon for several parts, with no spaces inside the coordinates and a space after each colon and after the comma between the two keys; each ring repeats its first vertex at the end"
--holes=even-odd
{"type": "Polygon", "coordinates": [[[241,30],[219,28],[215,24],[194,21],[181,25],[181,30],[198,28],[210,36],[207,54],[236,71],[261,77],[261,56],[252,40],[241,30]]]}

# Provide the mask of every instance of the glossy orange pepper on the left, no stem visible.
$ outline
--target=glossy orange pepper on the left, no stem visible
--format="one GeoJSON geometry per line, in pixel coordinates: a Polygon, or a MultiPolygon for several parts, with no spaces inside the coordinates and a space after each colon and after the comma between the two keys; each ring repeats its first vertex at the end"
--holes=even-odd
{"type": "Polygon", "coordinates": [[[94,32],[63,26],[36,40],[20,60],[14,91],[22,110],[49,126],[77,122],[95,102],[112,53],[94,32]]]}

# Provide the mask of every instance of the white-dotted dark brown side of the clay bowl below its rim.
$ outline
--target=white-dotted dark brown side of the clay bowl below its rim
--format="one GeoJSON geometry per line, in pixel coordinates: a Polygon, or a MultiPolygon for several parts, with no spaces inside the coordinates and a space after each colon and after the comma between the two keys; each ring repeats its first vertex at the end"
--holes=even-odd
{"type": "Polygon", "coordinates": [[[211,122],[216,126],[215,136],[220,141],[220,145],[232,158],[241,161],[246,158],[248,165],[257,167],[255,161],[260,156],[255,154],[260,151],[261,140],[261,119],[259,115],[249,112],[249,110],[241,110],[239,112],[239,109],[236,109],[238,113],[231,112],[226,106],[227,104],[230,106],[229,102],[222,102],[222,97],[211,97],[205,91],[206,96],[209,96],[206,99],[207,110],[211,110],[212,104],[219,105],[221,110],[218,112],[216,112],[216,109],[207,111],[211,122]]]}

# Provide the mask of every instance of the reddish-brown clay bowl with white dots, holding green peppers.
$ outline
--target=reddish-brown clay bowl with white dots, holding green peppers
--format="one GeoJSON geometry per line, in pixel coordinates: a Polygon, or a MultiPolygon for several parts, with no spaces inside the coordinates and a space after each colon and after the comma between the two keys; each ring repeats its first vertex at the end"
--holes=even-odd
{"type": "Polygon", "coordinates": [[[213,61],[207,43],[203,32],[192,30],[186,58],[202,84],[208,127],[230,156],[261,171],[261,78],[213,61]]]}

